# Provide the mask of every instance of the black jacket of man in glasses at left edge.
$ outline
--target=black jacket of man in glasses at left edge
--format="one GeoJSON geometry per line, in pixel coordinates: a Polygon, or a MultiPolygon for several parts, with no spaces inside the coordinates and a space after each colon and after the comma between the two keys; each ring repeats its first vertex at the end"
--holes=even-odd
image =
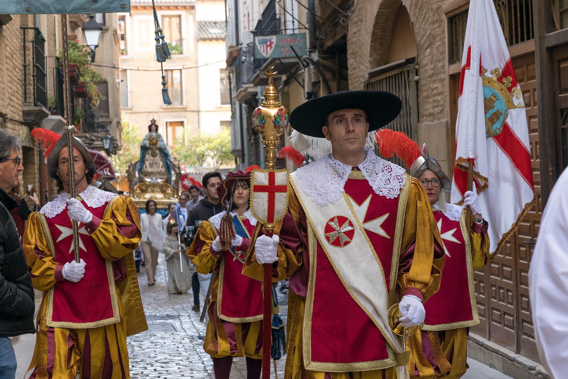
{"type": "Polygon", "coordinates": [[[10,210],[18,203],[0,188],[0,336],[35,333],[34,288],[10,210]]]}

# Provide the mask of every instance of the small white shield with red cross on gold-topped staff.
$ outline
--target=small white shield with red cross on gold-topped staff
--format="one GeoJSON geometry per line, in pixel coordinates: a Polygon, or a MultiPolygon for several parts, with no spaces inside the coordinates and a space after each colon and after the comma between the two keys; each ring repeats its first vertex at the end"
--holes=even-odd
{"type": "Polygon", "coordinates": [[[264,224],[281,220],[288,208],[288,170],[252,170],[250,211],[264,224]]]}

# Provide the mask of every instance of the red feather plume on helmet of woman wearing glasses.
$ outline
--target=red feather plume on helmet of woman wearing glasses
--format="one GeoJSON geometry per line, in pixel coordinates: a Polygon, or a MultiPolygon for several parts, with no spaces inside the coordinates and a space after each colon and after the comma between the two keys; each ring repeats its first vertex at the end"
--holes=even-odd
{"type": "Polygon", "coordinates": [[[422,154],[416,141],[411,140],[404,132],[395,132],[390,129],[381,129],[375,135],[375,143],[381,155],[390,158],[396,154],[410,169],[412,163],[422,154]]]}

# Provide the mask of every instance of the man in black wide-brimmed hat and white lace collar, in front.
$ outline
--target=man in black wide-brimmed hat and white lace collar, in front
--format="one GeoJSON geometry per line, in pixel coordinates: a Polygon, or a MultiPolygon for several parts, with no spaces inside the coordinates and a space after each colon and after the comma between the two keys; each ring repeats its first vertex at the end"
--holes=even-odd
{"type": "Polygon", "coordinates": [[[244,270],[290,277],[285,378],[406,377],[387,310],[421,324],[444,253],[420,182],[370,148],[400,109],[391,93],[343,91],[290,114],[296,149],[319,159],[290,175],[287,214],[273,238],[257,224],[244,270]]]}

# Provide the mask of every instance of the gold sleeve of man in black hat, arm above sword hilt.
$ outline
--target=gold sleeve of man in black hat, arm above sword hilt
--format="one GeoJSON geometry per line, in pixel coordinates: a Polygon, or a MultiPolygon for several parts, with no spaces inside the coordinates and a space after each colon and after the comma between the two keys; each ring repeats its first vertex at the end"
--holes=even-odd
{"type": "Polygon", "coordinates": [[[419,180],[411,178],[410,191],[406,203],[404,228],[400,256],[414,244],[414,255],[410,271],[399,270],[398,283],[402,293],[407,288],[417,288],[426,301],[440,289],[444,253],[435,259],[434,244],[442,245],[440,231],[432,214],[432,208],[419,180]]]}

